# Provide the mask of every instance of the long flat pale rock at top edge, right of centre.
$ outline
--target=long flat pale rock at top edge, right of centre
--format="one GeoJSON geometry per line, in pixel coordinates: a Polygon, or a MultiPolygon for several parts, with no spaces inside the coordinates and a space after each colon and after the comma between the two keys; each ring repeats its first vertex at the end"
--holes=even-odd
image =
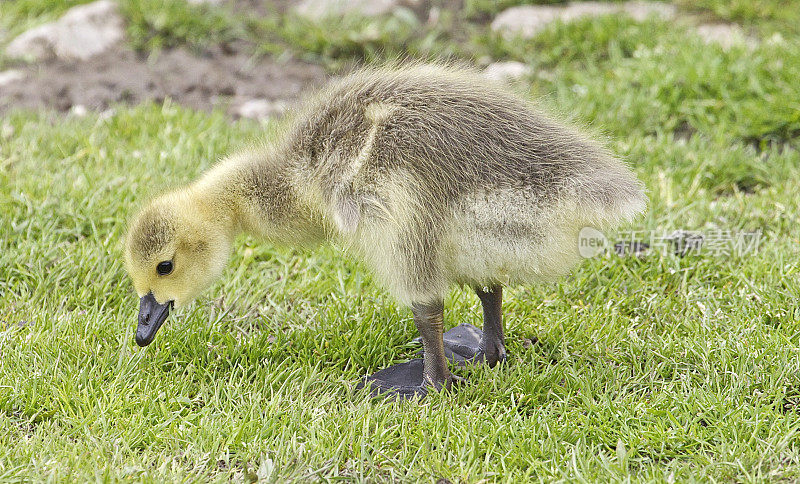
{"type": "Polygon", "coordinates": [[[572,2],[564,6],[523,5],[500,12],[492,21],[492,30],[504,35],[533,37],[556,20],[571,22],[583,17],[625,14],[642,21],[654,15],[662,19],[675,16],[675,7],[660,2],[572,2]]]}

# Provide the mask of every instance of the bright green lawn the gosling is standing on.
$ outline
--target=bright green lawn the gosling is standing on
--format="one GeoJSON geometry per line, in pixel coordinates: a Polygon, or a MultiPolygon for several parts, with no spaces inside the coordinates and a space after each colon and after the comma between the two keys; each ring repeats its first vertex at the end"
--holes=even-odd
{"type": "MultiPolygon", "coordinates": [[[[526,42],[471,23],[457,48],[445,31],[345,49],[311,45],[331,40],[314,31],[297,47],[329,66],[409,45],[525,62],[515,89],[647,185],[649,211],[625,231],[760,234],[757,250],[654,244],[509,288],[507,364],[457,370],[467,383],[421,402],[354,392],[413,357],[416,330],[337,247],[243,237],[217,285],[134,343],[127,219],[280,122],[170,101],[3,115],[0,481],[800,479],[800,37],[783,17],[705,3],[761,41],[726,50],[681,22],[603,17],[526,42]]],[[[16,12],[53,17],[29,4],[16,12]]],[[[298,25],[274,39],[302,37],[298,25]]],[[[166,45],[152,38],[143,48],[166,45]]],[[[445,318],[480,325],[477,298],[453,288],[445,318]]]]}

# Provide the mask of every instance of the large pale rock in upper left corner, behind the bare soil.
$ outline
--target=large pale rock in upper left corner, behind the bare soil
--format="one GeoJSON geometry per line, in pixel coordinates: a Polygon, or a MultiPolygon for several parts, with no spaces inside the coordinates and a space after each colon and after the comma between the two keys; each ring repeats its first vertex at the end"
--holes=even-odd
{"type": "Polygon", "coordinates": [[[21,34],[6,55],[31,60],[86,60],[122,40],[124,22],[117,4],[99,0],[69,9],[60,19],[21,34]]]}

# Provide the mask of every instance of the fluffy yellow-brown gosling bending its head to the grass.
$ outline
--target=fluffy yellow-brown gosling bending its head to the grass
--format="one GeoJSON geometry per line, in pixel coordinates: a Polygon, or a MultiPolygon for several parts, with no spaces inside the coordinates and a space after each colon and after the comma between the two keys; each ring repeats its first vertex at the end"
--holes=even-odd
{"type": "Polygon", "coordinates": [[[125,259],[141,297],[136,342],[149,344],[173,304],[221,275],[237,234],[335,240],[411,307],[423,343],[422,360],[367,383],[424,395],[450,387],[447,356],[505,359],[502,285],[567,273],[581,228],[614,227],[645,206],[621,161],[476,73],[361,70],[309,100],[271,146],[229,157],[135,217],[125,259]],[[451,284],[475,289],[482,333],[462,325],[443,340],[451,284]]]}

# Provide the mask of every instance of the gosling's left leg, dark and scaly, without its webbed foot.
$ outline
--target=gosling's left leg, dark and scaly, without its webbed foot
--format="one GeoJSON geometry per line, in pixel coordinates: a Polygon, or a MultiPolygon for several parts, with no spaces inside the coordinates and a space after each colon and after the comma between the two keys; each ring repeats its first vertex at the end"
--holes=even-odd
{"type": "Polygon", "coordinates": [[[411,306],[411,311],[414,313],[414,324],[422,338],[423,385],[432,386],[437,390],[443,387],[449,389],[452,377],[447,368],[442,341],[444,306],[441,301],[414,304],[411,306]]]}

